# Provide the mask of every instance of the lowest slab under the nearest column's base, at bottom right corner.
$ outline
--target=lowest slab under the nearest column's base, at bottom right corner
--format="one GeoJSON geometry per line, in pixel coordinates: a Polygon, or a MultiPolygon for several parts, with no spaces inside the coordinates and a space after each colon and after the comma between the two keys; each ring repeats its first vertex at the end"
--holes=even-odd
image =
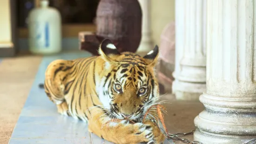
{"type": "Polygon", "coordinates": [[[203,144],[246,144],[246,142],[254,138],[256,136],[220,135],[200,129],[194,132],[194,141],[199,141],[203,144]]]}

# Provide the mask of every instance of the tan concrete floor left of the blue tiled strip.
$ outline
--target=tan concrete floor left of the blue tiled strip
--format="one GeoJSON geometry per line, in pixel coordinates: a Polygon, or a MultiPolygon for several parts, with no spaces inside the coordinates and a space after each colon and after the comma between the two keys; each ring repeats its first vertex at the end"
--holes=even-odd
{"type": "Polygon", "coordinates": [[[26,56],[0,63],[0,144],[7,144],[11,137],[41,59],[26,56]]]}

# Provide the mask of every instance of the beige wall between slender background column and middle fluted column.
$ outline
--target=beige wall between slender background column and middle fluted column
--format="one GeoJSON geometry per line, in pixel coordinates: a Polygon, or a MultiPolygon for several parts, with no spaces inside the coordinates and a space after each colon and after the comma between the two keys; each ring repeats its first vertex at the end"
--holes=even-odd
{"type": "Polygon", "coordinates": [[[151,36],[154,45],[160,45],[164,27],[175,20],[175,0],[151,0],[151,36]]]}

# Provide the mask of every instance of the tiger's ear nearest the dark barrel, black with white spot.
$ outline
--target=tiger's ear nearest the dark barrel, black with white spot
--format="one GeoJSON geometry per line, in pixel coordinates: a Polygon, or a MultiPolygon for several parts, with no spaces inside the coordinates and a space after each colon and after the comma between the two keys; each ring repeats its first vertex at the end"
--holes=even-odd
{"type": "Polygon", "coordinates": [[[104,39],[101,42],[98,48],[98,53],[101,55],[102,59],[107,62],[112,61],[111,56],[121,55],[121,53],[118,52],[118,49],[110,39],[104,39]]]}

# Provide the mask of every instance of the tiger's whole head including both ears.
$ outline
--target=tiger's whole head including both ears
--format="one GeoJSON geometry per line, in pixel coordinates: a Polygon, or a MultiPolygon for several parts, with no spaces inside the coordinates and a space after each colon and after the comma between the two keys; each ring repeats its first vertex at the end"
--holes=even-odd
{"type": "Polygon", "coordinates": [[[111,118],[141,121],[148,108],[158,100],[154,67],[158,46],[144,57],[131,52],[119,53],[108,39],[99,53],[105,60],[103,78],[98,86],[99,99],[111,118]]]}

